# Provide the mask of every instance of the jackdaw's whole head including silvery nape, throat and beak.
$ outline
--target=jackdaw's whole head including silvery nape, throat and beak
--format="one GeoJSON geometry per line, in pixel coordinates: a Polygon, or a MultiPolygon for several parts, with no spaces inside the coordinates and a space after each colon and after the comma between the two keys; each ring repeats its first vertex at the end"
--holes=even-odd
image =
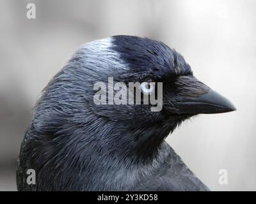
{"type": "Polygon", "coordinates": [[[173,48],[148,38],[113,36],[81,46],[52,78],[38,102],[34,126],[55,135],[83,140],[86,135],[98,142],[104,138],[102,145],[115,142],[121,149],[131,144],[146,150],[156,149],[189,117],[233,110],[228,99],[193,76],[173,48]],[[136,82],[137,95],[129,92],[136,92],[136,85],[129,87],[136,82]],[[157,103],[143,100],[151,92],[157,103]],[[141,98],[136,101],[136,96],[141,98]]]}

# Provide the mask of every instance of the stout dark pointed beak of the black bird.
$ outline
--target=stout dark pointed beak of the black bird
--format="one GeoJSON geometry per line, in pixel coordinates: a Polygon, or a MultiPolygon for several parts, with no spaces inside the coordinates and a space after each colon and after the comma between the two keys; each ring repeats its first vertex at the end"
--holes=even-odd
{"type": "Polygon", "coordinates": [[[174,105],[179,110],[178,114],[211,114],[236,110],[236,107],[227,98],[196,78],[193,77],[193,80],[189,80],[189,82],[192,83],[183,84],[186,92],[181,94],[179,101],[174,105]]]}

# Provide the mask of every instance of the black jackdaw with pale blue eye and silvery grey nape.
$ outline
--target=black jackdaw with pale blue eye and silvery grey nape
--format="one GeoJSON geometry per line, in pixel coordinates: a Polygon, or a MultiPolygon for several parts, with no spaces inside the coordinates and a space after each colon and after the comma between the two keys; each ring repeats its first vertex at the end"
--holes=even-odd
{"type": "Polygon", "coordinates": [[[233,110],[232,103],[193,77],[182,55],[162,42],[113,36],[86,43],[36,103],[20,148],[17,188],[209,191],[164,138],[190,117],[233,110]],[[125,85],[156,82],[155,93],[162,82],[161,111],[152,111],[156,105],[143,101],[95,104],[99,90],[93,86],[108,84],[108,77],[125,85]],[[35,170],[35,184],[27,182],[29,169],[35,170]]]}

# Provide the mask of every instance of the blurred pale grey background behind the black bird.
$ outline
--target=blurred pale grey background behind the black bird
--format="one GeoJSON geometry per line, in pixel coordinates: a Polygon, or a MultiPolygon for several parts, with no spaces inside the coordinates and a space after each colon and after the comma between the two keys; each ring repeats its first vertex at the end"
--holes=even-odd
{"type": "Polygon", "coordinates": [[[116,34],[160,40],[237,107],[184,122],[168,143],[214,191],[256,190],[256,1],[0,1],[0,191],[40,91],[79,45],[116,34]],[[26,18],[35,3],[36,18],[26,18]],[[220,185],[218,171],[228,171],[220,185]]]}

